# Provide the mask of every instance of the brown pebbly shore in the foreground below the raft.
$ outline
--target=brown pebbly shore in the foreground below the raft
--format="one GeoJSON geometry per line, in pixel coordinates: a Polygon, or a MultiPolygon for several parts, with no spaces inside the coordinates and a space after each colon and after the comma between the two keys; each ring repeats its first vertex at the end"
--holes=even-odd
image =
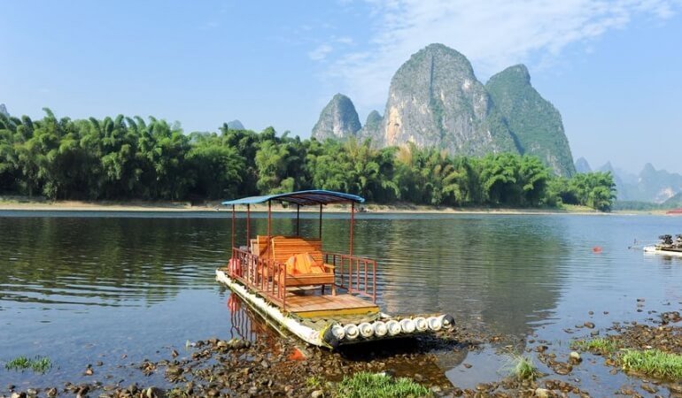
{"type": "MultiPolygon", "coordinates": [[[[337,352],[307,347],[292,338],[255,341],[210,338],[190,343],[182,354],[172,349],[165,359],[144,360],[131,366],[132,371],[142,375],[142,380],[150,380],[149,383],[128,384],[125,380],[66,382],[60,386],[22,391],[6,386],[0,390],[0,396],[353,396],[345,395],[339,386],[342,380],[358,372],[380,373],[390,378],[408,377],[427,387],[430,396],[437,397],[682,396],[679,380],[657,378],[624,368],[622,353],[628,350],[682,352],[682,325],[678,324],[682,317],[679,313],[670,311],[650,319],[646,324],[616,322],[603,330],[595,329],[588,321],[576,325],[576,329],[588,331],[590,337],[570,337],[559,343],[536,340],[533,336],[515,341],[508,336],[477,333],[461,325],[437,336],[351,346],[337,352]],[[515,369],[500,373],[497,380],[477,383],[475,387],[461,387],[453,385],[438,364],[438,356],[447,355],[458,358],[462,366],[469,368],[471,365],[465,362],[468,355],[484,350],[494,350],[499,356],[529,358],[531,367],[524,372],[517,365],[515,369]],[[533,360],[539,364],[533,365],[533,360]],[[584,377],[585,373],[593,373],[590,379],[597,379],[596,373],[601,377],[603,374],[607,377],[621,374],[629,383],[614,390],[587,391],[578,377],[584,377]]],[[[523,364],[523,360],[519,359],[518,364],[523,364]]],[[[92,367],[86,365],[84,374],[92,373],[92,367]]]]}

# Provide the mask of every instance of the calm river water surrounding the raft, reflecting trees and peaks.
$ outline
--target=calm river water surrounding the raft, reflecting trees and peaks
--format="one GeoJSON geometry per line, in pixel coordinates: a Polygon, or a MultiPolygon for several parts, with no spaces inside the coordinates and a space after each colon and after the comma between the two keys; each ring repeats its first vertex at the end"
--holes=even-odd
{"type": "MultiPolygon", "coordinates": [[[[260,216],[255,228],[264,233],[260,216]]],[[[289,217],[275,216],[274,233],[291,234],[289,217]]],[[[325,249],[345,251],[346,217],[325,215],[325,249]]],[[[317,233],[316,218],[302,220],[304,235],[317,233]]],[[[629,246],[680,233],[680,221],[360,214],[355,252],[378,260],[378,302],[386,312],[445,311],[486,333],[565,341],[563,330],[587,319],[600,328],[679,309],[682,258],[629,246]],[[639,312],[637,298],[646,302],[639,312]],[[591,310],[600,316],[589,317],[591,310]]],[[[231,313],[229,290],[214,281],[229,240],[228,212],[0,211],[0,391],[9,383],[77,382],[86,364],[100,361],[100,379],[140,379],[120,366],[168,358],[186,341],[250,333],[244,311],[231,313]],[[15,356],[49,356],[55,366],[44,375],[5,371],[15,356]]],[[[468,359],[477,360],[486,358],[468,359]]],[[[461,382],[459,363],[444,360],[443,371],[461,382]]]]}

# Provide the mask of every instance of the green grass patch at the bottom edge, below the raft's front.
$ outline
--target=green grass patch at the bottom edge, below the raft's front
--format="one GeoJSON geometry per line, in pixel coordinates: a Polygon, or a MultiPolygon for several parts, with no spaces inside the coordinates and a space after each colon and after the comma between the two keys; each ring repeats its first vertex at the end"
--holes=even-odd
{"type": "Polygon", "coordinates": [[[338,398],[407,398],[431,396],[428,388],[407,378],[360,371],[337,385],[338,398]]]}

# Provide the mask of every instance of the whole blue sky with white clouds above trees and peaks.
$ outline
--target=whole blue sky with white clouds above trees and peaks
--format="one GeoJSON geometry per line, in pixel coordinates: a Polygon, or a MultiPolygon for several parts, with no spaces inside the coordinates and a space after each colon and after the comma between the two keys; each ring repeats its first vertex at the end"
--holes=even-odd
{"type": "Polygon", "coordinates": [[[0,0],[0,103],[13,115],[119,113],[302,138],[329,99],[364,123],[431,42],[485,82],[525,64],[573,157],[682,173],[682,0],[0,0]]]}

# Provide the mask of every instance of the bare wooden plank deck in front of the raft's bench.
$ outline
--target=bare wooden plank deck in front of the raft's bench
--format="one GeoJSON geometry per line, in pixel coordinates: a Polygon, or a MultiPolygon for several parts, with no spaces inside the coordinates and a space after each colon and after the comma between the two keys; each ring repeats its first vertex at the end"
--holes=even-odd
{"type": "Polygon", "coordinates": [[[290,289],[287,292],[286,310],[301,318],[324,318],[341,315],[367,315],[379,312],[373,302],[360,297],[337,293],[320,295],[320,289],[290,289]]]}

